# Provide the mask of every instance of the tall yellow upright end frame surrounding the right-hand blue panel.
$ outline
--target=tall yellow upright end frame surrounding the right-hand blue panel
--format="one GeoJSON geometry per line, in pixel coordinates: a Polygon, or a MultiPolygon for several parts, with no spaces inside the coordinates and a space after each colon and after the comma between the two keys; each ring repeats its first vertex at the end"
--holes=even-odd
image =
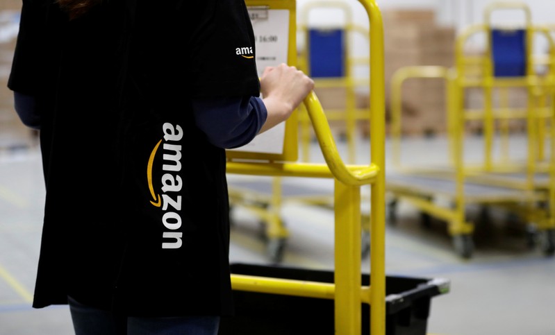
{"type": "MultiPolygon", "coordinates": [[[[545,166],[537,166],[538,159],[543,159],[545,155],[545,148],[543,146],[545,139],[545,130],[540,127],[545,120],[552,119],[551,108],[547,106],[540,105],[540,101],[544,100],[546,103],[549,97],[549,87],[553,83],[553,55],[555,52],[555,44],[551,35],[549,35],[549,29],[546,27],[534,27],[531,25],[531,12],[526,5],[522,2],[495,2],[491,3],[484,12],[484,19],[486,24],[475,24],[467,27],[456,40],[455,47],[455,58],[456,58],[456,70],[458,76],[458,83],[463,89],[465,87],[482,87],[484,90],[484,107],[483,110],[463,110],[466,120],[483,120],[484,121],[484,155],[483,162],[478,166],[466,166],[467,171],[522,171],[522,164],[515,164],[514,162],[508,162],[508,144],[506,143],[506,138],[502,137],[502,158],[504,162],[495,164],[492,161],[492,146],[493,146],[493,136],[495,132],[494,121],[499,119],[499,121],[506,122],[509,119],[527,119],[527,124],[529,125],[527,132],[531,141],[528,144],[528,152],[530,155],[527,157],[526,166],[529,175],[532,175],[533,171],[538,171],[538,168],[546,171],[549,169],[545,166]],[[497,9],[515,9],[522,10],[526,17],[526,34],[527,34],[527,65],[526,74],[523,77],[515,78],[495,78],[493,76],[493,64],[490,47],[486,49],[486,54],[483,56],[470,56],[465,57],[464,55],[464,45],[467,40],[478,33],[485,33],[488,38],[488,45],[491,45],[491,16],[492,12],[497,9]],[[550,53],[547,56],[547,60],[534,61],[532,55],[532,40],[533,35],[540,33],[544,35],[549,44],[550,53]],[[540,78],[534,74],[534,67],[536,65],[541,65],[542,63],[547,64],[549,67],[549,74],[545,78],[540,78]],[[474,69],[480,68],[481,74],[478,76],[472,76],[472,73],[467,68],[468,66],[474,66],[474,69]],[[469,76],[470,75],[470,76],[469,76]],[[493,89],[506,89],[508,87],[526,87],[529,94],[529,102],[527,108],[508,108],[508,105],[504,103],[504,108],[497,108],[497,113],[494,114],[492,105],[492,91],[493,89]]],[[[503,102],[503,101],[502,101],[503,102]]],[[[553,103],[553,101],[552,101],[553,103]]],[[[502,135],[506,135],[507,130],[503,128],[500,129],[502,135]]],[[[529,184],[531,183],[531,178],[529,178],[529,184]]],[[[529,185],[528,188],[530,188],[529,185]]]]}

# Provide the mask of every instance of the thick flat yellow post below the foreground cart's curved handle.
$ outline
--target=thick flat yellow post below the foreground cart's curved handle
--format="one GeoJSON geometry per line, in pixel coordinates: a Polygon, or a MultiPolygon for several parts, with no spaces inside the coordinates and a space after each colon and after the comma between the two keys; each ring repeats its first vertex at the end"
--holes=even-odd
{"type": "Polygon", "coordinates": [[[336,334],[361,334],[361,194],[336,180],[336,334]]]}

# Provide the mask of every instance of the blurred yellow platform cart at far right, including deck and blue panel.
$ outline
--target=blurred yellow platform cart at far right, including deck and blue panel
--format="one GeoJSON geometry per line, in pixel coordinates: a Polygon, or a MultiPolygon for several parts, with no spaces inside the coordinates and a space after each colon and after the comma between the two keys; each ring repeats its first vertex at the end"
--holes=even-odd
{"type": "MultiPolygon", "coordinates": [[[[431,216],[449,223],[449,233],[459,255],[470,257],[473,252],[473,223],[465,218],[469,204],[498,206],[522,216],[540,232],[541,248],[546,255],[555,252],[554,202],[554,42],[546,28],[534,27],[531,15],[523,3],[492,3],[486,10],[486,24],[470,26],[456,41],[456,68],[406,67],[392,78],[392,141],[393,166],[388,174],[387,190],[391,196],[390,214],[395,211],[398,198],[404,198],[431,216]],[[491,13],[497,9],[522,10],[527,19],[525,28],[492,28],[491,13]],[[515,31],[517,33],[515,33],[515,31]],[[464,44],[477,33],[488,37],[488,48],[483,55],[464,55],[464,44]],[[509,60],[498,67],[494,57],[493,40],[514,34],[520,36],[522,58],[509,60]],[[541,74],[532,57],[531,39],[541,34],[549,41],[550,51],[541,74]],[[495,37],[497,36],[497,37],[495,37]],[[514,65],[511,62],[516,62],[514,65]],[[518,66],[520,65],[520,66],[518,66]],[[445,80],[447,87],[447,129],[449,130],[450,166],[411,169],[401,166],[399,157],[401,122],[401,85],[409,78],[445,80]],[[483,91],[481,108],[465,107],[469,88],[483,91]],[[527,92],[527,103],[513,107],[507,102],[507,90],[527,92]],[[495,93],[498,94],[494,101],[495,93]],[[497,102],[497,103],[496,103],[497,102]],[[527,157],[511,160],[508,155],[508,121],[518,119],[526,123],[527,157]],[[483,159],[478,164],[465,162],[464,142],[469,121],[483,124],[483,159]],[[494,139],[501,144],[501,160],[493,159],[494,139]],[[546,141],[550,152],[545,151],[546,141]],[[438,196],[447,197],[449,205],[438,205],[438,196]]],[[[506,41],[502,41],[508,43],[506,41]]],[[[513,44],[509,43],[510,46],[513,44]]],[[[515,53],[518,53],[515,51],[515,53]]],[[[498,53],[499,54],[499,53],[498,53]]],[[[506,53],[505,53],[506,54],[506,53]]],[[[392,215],[394,216],[394,215],[392,215]]]]}

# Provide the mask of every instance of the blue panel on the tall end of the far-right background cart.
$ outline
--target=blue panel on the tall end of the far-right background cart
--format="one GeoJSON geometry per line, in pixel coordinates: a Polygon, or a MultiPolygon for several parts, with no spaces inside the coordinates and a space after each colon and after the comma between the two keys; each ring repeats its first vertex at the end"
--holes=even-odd
{"type": "Polygon", "coordinates": [[[526,31],[492,29],[494,76],[521,77],[526,74],[526,31]]]}

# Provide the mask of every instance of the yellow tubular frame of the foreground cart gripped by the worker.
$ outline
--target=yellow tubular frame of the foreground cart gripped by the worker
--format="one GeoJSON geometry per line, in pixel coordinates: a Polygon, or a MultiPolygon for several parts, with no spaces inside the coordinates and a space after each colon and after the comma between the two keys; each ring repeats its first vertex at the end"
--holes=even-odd
{"type": "Polygon", "coordinates": [[[386,334],[385,272],[385,90],[383,23],[374,0],[360,0],[370,18],[370,146],[368,166],[346,166],[333,141],[322,105],[314,94],[304,101],[313,122],[326,164],[228,162],[227,171],[238,174],[329,177],[335,179],[336,246],[335,283],[304,282],[270,277],[231,275],[233,289],[335,299],[335,333],[361,334],[361,303],[372,305],[372,335],[386,334]],[[360,187],[371,184],[370,286],[361,285],[360,187]]]}

